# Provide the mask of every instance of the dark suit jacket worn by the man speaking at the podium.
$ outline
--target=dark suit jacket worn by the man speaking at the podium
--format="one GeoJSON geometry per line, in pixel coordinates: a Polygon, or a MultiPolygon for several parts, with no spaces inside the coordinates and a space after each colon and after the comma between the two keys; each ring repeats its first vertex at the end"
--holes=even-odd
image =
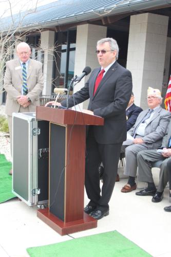
{"type": "MultiPolygon", "coordinates": [[[[98,143],[113,144],[126,140],[125,109],[129,102],[132,90],[132,78],[129,70],[117,63],[108,69],[96,94],[93,96],[94,83],[100,68],[91,72],[90,78],[77,93],[69,98],[69,107],[89,99],[88,109],[94,115],[104,118],[103,126],[93,126],[94,136],[98,143]]],[[[66,106],[66,100],[61,104],[66,106]]]]}

